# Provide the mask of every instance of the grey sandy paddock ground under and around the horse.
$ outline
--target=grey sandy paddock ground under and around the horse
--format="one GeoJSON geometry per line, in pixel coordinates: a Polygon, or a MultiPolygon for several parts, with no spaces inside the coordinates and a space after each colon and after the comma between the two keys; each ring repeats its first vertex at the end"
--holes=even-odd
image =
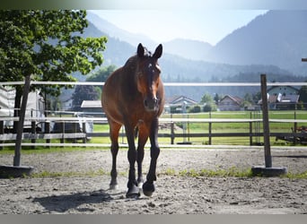
{"type": "MultiPolygon", "coordinates": [[[[307,148],[272,149],[273,167],[291,173],[307,170],[307,148]]],[[[144,171],[149,166],[145,151],[144,171]]],[[[12,165],[1,155],[1,165],[12,165]]],[[[307,179],[285,177],[185,177],[187,170],[244,170],[264,165],[261,148],[162,149],[152,197],[127,199],[127,150],[118,153],[118,189],[110,190],[110,151],[22,155],[34,173],[87,173],[81,177],[0,179],[0,213],[99,214],[306,214],[307,179]],[[91,177],[91,172],[106,174],[91,177]],[[166,174],[168,173],[168,174],[166,174]]]]}

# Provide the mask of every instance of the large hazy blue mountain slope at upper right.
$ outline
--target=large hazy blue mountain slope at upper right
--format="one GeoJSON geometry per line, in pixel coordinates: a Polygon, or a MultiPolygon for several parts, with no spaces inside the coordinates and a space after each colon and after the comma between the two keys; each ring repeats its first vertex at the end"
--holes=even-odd
{"type": "Polygon", "coordinates": [[[307,11],[268,11],[234,30],[207,53],[206,61],[231,65],[276,65],[306,74],[307,11]]]}

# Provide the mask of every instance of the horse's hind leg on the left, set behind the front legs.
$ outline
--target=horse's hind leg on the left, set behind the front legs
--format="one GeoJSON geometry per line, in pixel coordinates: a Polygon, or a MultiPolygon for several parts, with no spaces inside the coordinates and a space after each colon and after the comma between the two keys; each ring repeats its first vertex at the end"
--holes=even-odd
{"type": "Polygon", "coordinates": [[[112,153],[112,169],[110,172],[111,181],[110,181],[110,189],[115,189],[118,185],[118,171],[116,168],[116,160],[118,156],[118,134],[119,129],[121,127],[120,124],[110,121],[110,140],[111,140],[111,148],[110,151],[112,153]]]}

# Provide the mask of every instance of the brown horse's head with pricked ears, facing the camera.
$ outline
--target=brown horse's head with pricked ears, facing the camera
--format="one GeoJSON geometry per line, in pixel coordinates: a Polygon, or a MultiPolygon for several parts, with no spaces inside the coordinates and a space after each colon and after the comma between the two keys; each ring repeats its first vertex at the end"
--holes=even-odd
{"type": "Polygon", "coordinates": [[[147,111],[156,111],[159,109],[159,88],[161,69],[158,65],[158,58],[162,56],[162,45],[156,47],[153,55],[147,51],[142,44],[137,47],[138,67],[136,73],[137,90],[139,90],[144,99],[144,106],[147,111]]]}

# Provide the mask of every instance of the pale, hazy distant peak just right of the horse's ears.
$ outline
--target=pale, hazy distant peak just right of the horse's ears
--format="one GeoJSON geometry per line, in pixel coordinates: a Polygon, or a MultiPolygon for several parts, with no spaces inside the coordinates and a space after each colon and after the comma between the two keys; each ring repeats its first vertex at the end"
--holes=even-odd
{"type": "Polygon", "coordinates": [[[209,43],[191,39],[173,39],[163,43],[165,52],[192,60],[204,60],[213,46],[209,43]]]}

